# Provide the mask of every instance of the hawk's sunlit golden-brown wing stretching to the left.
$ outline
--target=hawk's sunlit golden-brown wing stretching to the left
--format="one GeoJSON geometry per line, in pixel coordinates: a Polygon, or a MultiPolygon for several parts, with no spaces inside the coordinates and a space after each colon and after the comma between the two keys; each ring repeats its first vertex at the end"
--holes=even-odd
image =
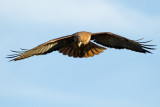
{"type": "Polygon", "coordinates": [[[72,42],[73,36],[74,35],[69,35],[69,36],[53,39],[41,45],[38,45],[37,47],[30,50],[22,49],[23,51],[12,51],[12,52],[15,52],[16,54],[8,55],[7,58],[12,58],[11,61],[17,61],[17,60],[34,56],[34,55],[44,55],[52,51],[59,50],[63,46],[68,45],[70,42],[72,42]]]}

